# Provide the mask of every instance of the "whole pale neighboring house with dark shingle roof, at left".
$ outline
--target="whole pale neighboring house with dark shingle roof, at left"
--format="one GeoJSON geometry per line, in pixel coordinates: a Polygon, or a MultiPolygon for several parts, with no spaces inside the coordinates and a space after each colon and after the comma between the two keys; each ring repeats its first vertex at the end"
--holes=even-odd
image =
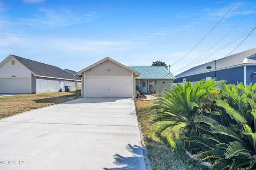
{"type": "Polygon", "coordinates": [[[0,63],[0,93],[39,94],[76,90],[81,79],[44,63],[9,55],[0,63]]]}

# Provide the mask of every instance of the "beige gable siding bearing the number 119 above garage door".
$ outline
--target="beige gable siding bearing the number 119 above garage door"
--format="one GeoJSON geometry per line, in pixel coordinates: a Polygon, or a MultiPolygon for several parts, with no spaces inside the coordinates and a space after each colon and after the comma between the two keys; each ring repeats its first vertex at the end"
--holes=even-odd
{"type": "Polygon", "coordinates": [[[131,76],[132,72],[111,61],[105,61],[85,72],[85,76],[131,76]]]}

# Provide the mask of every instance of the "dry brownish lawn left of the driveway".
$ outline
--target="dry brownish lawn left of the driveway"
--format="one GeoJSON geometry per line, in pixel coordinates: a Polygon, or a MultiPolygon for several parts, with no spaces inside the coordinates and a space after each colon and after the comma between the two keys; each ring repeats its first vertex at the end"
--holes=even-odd
{"type": "Polygon", "coordinates": [[[0,96],[0,119],[12,115],[52,106],[78,98],[81,92],[59,92],[46,94],[22,94],[14,96],[0,96]]]}

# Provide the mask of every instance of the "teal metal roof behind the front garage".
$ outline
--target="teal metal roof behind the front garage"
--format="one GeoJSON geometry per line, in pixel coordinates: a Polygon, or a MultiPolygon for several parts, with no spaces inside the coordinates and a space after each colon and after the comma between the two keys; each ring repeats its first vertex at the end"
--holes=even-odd
{"type": "Polygon", "coordinates": [[[129,68],[140,72],[140,79],[176,79],[164,66],[132,66],[129,68]]]}

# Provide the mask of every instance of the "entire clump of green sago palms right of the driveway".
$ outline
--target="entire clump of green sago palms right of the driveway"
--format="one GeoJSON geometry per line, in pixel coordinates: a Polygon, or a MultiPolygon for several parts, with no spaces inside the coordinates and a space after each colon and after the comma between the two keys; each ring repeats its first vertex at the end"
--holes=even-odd
{"type": "Polygon", "coordinates": [[[190,166],[209,162],[212,170],[256,169],[256,84],[224,84],[201,80],[165,90],[154,107],[162,127],[184,124],[184,148],[190,166]]]}

